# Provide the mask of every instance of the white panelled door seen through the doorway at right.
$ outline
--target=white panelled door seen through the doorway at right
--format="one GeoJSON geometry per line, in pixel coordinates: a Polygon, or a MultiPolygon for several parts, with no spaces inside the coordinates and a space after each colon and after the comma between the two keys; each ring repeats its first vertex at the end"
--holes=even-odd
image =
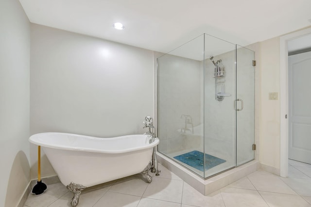
{"type": "Polygon", "coordinates": [[[311,164],[311,52],[288,57],[289,158],[311,164]]]}

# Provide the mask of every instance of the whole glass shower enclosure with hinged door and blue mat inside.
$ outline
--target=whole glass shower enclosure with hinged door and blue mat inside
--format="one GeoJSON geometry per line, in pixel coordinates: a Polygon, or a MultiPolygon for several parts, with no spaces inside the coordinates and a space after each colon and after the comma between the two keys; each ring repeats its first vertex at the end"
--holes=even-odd
{"type": "Polygon", "coordinates": [[[202,178],[255,158],[254,56],[203,34],[157,58],[159,153],[202,178]]]}

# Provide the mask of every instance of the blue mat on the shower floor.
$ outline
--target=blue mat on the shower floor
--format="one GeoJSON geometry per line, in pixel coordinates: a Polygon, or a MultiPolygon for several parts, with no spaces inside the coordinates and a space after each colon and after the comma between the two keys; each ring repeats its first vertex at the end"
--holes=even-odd
{"type": "MultiPolygon", "coordinates": [[[[203,166],[204,156],[203,153],[199,151],[194,150],[192,152],[183,155],[174,156],[174,158],[183,163],[186,163],[187,165],[190,165],[191,167],[199,171],[204,171],[203,166]]],[[[211,169],[224,162],[225,162],[224,159],[205,154],[205,170],[211,169]]]]}

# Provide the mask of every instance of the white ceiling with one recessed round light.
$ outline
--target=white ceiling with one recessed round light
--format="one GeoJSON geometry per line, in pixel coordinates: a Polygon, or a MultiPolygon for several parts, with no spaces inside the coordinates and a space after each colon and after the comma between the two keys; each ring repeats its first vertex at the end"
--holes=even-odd
{"type": "Polygon", "coordinates": [[[203,33],[246,46],[311,26],[311,0],[19,1],[33,23],[158,52],[203,33]]]}

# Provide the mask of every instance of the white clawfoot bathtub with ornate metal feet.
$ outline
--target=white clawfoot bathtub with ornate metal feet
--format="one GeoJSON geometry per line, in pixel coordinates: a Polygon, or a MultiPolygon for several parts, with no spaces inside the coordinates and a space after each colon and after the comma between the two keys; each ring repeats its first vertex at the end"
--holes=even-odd
{"type": "Polygon", "coordinates": [[[40,133],[29,138],[40,145],[60,181],[74,193],[71,206],[78,205],[81,190],[111,180],[141,173],[147,182],[153,148],[148,135],[95,138],[67,133],[40,133]]]}

